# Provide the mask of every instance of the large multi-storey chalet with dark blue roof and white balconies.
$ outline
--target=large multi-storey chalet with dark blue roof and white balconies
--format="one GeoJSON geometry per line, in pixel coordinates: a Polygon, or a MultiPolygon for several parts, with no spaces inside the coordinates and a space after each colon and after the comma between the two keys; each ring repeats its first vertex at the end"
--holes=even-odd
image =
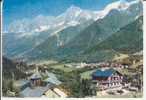
{"type": "Polygon", "coordinates": [[[92,73],[93,83],[99,90],[122,87],[123,76],[114,69],[96,70],[92,73]]]}

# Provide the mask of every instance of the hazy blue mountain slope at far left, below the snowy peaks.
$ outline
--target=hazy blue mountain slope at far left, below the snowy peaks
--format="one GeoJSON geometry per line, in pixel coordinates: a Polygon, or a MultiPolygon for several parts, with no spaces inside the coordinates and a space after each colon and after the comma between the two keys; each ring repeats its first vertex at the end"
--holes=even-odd
{"type": "Polygon", "coordinates": [[[7,57],[15,57],[19,54],[32,49],[34,46],[40,44],[48,37],[49,32],[41,32],[33,36],[20,36],[21,33],[4,33],[3,34],[3,55],[7,57]]]}

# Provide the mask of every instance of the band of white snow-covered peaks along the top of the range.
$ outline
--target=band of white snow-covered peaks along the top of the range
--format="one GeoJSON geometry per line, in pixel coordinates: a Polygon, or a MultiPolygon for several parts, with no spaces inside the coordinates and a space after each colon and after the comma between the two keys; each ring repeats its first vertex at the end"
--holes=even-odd
{"type": "MultiPolygon", "coordinates": [[[[56,17],[38,15],[34,19],[21,19],[13,21],[7,28],[8,32],[16,33],[30,33],[41,32],[49,29],[56,29],[58,27],[75,26],[87,20],[98,20],[104,18],[113,9],[117,11],[127,11],[132,5],[139,4],[140,0],[133,0],[128,2],[126,0],[119,0],[108,4],[101,11],[83,10],[77,6],[70,6],[64,13],[56,17]]],[[[139,10],[139,6],[138,6],[139,10]]],[[[127,11],[128,12],[128,11],[127,11]]],[[[27,35],[27,34],[26,34],[27,35]]]]}

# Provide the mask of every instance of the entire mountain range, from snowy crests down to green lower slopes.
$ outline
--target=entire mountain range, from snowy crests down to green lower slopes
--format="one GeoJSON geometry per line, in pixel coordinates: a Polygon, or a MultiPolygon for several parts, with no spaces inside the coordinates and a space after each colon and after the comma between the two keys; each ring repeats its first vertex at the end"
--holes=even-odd
{"type": "Polygon", "coordinates": [[[143,48],[142,11],[141,1],[117,1],[101,11],[71,6],[57,17],[15,21],[3,35],[4,55],[27,61],[98,61],[135,53],[143,48]]]}

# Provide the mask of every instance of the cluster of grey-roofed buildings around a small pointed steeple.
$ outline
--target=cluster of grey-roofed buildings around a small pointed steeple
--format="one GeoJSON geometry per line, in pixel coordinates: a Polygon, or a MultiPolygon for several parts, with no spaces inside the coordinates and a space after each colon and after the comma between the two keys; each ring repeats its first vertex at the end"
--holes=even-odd
{"type": "Polygon", "coordinates": [[[47,71],[40,73],[37,68],[29,80],[17,82],[16,86],[22,88],[20,97],[67,97],[66,93],[57,88],[60,84],[55,74],[47,71]]]}

